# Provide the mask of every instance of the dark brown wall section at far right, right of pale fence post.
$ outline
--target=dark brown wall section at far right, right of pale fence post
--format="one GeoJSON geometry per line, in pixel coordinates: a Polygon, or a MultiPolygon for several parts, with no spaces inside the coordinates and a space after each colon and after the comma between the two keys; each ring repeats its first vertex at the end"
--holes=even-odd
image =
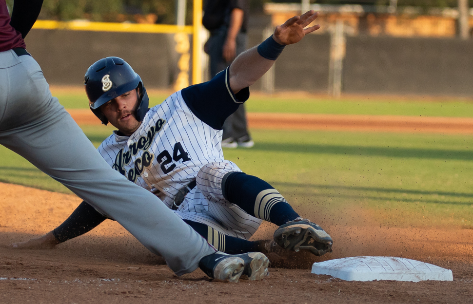
{"type": "Polygon", "coordinates": [[[343,92],[473,94],[473,41],[347,37],[343,92]]]}

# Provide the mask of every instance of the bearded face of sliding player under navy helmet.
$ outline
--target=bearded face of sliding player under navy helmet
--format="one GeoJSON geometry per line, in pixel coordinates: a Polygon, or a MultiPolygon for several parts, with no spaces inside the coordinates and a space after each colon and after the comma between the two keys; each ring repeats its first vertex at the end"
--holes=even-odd
{"type": "Polygon", "coordinates": [[[132,90],[103,104],[99,109],[118,131],[130,136],[141,124],[134,115],[137,106],[137,91],[132,90]]]}

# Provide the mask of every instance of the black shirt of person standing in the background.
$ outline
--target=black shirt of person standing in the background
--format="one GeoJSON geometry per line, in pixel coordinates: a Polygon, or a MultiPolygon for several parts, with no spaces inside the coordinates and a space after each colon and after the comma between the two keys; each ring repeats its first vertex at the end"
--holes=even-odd
{"type": "Polygon", "coordinates": [[[248,2],[246,0],[207,0],[204,4],[204,17],[202,25],[209,31],[221,26],[229,26],[230,13],[239,8],[243,10],[243,23],[240,32],[246,33],[248,25],[248,2]]]}

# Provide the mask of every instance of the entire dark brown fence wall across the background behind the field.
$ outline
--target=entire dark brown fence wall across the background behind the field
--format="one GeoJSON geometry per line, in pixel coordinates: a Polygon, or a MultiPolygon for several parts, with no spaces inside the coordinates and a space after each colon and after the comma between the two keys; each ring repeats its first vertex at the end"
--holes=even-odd
{"type": "MultiPolygon", "coordinates": [[[[250,46],[261,39],[250,31],[250,46]]],[[[26,43],[51,84],[81,84],[90,64],[106,56],[124,58],[149,88],[171,88],[177,76],[171,34],[32,30],[26,43]]],[[[329,60],[329,34],[286,47],[276,61],[276,91],[326,93],[329,60]]],[[[347,37],[342,93],[472,95],[473,41],[347,37]]]]}

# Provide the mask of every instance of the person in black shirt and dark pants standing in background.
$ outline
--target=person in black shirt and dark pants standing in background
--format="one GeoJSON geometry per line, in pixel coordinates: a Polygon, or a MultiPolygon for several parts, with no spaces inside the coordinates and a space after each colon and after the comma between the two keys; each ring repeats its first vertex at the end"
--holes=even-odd
{"type": "MultiPolygon", "coordinates": [[[[210,56],[210,76],[225,70],[248,45],[248,3],[246,0],[207,0],[204,4],[203,26],[210,31],[205,52],[210,56]]],[[[241,104],[223,125],[223,148],[251,148],[255,145],[241,104]]]]}

